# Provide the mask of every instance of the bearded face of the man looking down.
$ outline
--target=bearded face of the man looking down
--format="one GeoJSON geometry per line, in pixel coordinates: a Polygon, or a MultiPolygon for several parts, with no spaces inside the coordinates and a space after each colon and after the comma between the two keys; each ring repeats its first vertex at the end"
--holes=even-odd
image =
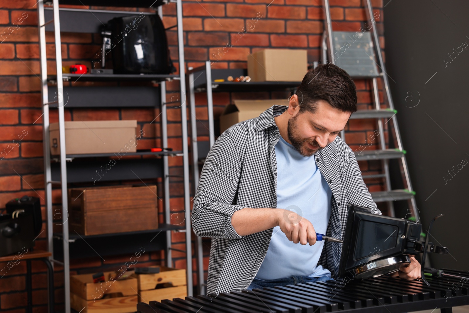
{"type": "Polygon", "coordinates": [[[295,113],[288,120],[288,140],[306,157],[313,155],[329,143],[344,129],[350,112],[342,112],[324,100],[318,101],[315,113],[303,110],[295,113]]]}

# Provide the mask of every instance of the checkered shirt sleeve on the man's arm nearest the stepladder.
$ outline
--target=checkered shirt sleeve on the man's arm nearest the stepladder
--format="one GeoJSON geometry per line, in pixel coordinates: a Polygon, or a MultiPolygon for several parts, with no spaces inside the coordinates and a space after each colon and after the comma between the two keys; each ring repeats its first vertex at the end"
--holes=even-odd
{"type": "Polygon", "coordinates": [[[362,172],[358,166],[355,153],[353,153],[352,149],[349,147],[347,150],[347,165],[345,167],[343,177],[345,180],[345,186],[347,188],[348,201],[359,206],[369,207],[372,214],[382,215],[381,211],[378,209],[378,206],[373,201],[373,198],[371,198],[368,187],[363,182],[362,172]]]}

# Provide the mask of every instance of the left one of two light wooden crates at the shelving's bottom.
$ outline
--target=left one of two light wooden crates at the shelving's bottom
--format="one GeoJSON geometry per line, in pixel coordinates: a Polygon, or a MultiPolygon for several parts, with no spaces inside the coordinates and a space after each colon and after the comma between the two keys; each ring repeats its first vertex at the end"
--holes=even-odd
{"type": "Polygon", "coordinates": [[[82,313],[132,313],[136,310],[137,279],[130,277],[121,281],[108,280],[109,274],[104,272],[106,282],[93,283],[92,274],[70,276],[70,305],[82,313]],[[120,293],[120,297],[105,298],[105,295],[120,293]]]}

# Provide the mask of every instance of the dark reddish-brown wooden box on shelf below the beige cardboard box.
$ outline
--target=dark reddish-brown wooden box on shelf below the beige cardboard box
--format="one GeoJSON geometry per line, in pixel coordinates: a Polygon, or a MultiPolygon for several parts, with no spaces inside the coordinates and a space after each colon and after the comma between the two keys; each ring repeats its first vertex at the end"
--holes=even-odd
{"type": "Polygon", "coordinates": [[[68,190],[70,232],[99,235],[158,228],[156,186],[68,190]]]}

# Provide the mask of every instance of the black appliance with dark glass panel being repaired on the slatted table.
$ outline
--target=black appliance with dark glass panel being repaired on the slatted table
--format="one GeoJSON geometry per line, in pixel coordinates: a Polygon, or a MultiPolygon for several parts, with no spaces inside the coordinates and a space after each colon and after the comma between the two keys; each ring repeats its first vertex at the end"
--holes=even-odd
{"type": "Polygon", "coordinates": [[[426,242],[420,240],[422,224],[418,222],[371,214],[368,207],[350,203],[347,208],[339,268],[341,278],[378,277],[410,263],[409,255],[423,252],[424,261],[426,252],[448,253],[447,248],[428,243],[428,238],[426,242]]]}

